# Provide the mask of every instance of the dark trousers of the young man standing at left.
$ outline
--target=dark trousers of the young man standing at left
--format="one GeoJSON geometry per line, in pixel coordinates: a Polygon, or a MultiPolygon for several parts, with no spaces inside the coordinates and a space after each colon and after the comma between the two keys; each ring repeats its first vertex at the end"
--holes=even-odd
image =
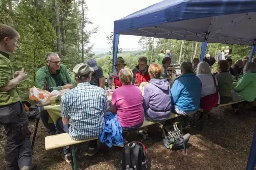
{"type": "Polygon", "coordinates": [[[31,132],[28,129],[29,120],[21,102],[0,106],[0,122],[7,136],[6,170],[19,170],[24,166],[31,166],[31,132]]]}

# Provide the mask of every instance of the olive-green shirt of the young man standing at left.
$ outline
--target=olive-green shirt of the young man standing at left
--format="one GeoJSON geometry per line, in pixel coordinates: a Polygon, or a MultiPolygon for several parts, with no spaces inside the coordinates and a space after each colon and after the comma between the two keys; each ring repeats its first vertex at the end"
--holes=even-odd
{"type": "MultiPolygon", "coordinates": [[[[8,85],[14,79],[14,71],[9,56],[0,53],[0,88],[8,85]]],[[[0,106],[10,105],[20,101],[17,88],[12,88],[6,92],[0,90],[0,106]]]]}

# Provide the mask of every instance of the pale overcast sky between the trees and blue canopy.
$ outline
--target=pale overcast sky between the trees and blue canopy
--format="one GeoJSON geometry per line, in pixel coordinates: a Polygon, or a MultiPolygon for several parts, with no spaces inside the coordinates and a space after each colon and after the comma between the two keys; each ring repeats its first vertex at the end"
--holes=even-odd
{"type": "MultiPolygon", "coordinates": [[[[88,6],[87,17],[93,26],[99,25],[98,33],[90,38],[96,48],[109,48],[106,36],[114,31],[114,21],[130,15],[140,9],[146,8],[162,0],[86,0],[88,6]]],[[[92,26],[87,27],[91,29],[92,26]]],[[[86,28],[86,29],[87,29],[86,28]]],[[[120,35],[120,48],[141,48],[138,36],[120,35]]]]}

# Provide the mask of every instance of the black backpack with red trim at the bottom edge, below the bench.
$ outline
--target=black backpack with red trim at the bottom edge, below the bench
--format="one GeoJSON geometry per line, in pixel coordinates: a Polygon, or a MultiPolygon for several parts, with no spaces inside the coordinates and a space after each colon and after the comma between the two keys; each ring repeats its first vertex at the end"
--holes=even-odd
{"type": "Polygon", "coordinates": [[[148,170],[146,147],[140,142],[126,144],[122,152],[119,170],[148,170]]]}

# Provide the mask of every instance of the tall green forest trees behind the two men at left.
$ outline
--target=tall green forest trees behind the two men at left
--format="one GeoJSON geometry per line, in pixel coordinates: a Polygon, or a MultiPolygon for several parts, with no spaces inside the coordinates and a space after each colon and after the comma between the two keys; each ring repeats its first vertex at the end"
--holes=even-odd
{"type": "MultiPolygon", "coordinates": [[[[35,85],[36,71],[45,65],[47,52],[57,51],[56,0],[2,0],[0,1],[0,23],[14,27],[20,34],[19,47],[10,60],[15,71],[24,68],[28,79],[19,84],[21,98],[28,99],[29,88],[35,85]]],[[[82,12],[81,0],[57,0],[60,21],[61,61],[67,68],[93,57],[89,46],[91,34],[98,27],[84,31],[84,51],[81,51],[82,12]]],[[[85,9],[87,9],[86,4],[85,9]]],[[[92,24],[86,17],[85,26],[92,24]]],[[[71,74],[73,75],[73,74],[71,74]]]]}

